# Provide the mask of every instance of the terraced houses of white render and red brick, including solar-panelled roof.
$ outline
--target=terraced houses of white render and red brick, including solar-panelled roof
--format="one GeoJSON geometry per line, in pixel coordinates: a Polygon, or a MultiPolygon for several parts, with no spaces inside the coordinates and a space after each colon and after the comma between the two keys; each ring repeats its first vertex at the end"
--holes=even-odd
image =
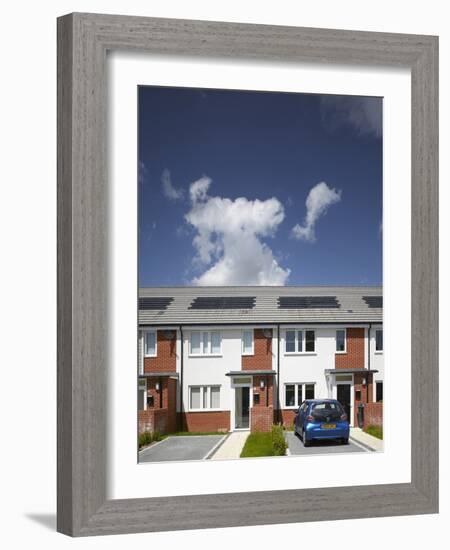
{"type": "Polygon", "coordinates": [[[164,287],[139,296],[139,430],[269,430],[304,399],[381,424],[380,287],[164,287]]]}

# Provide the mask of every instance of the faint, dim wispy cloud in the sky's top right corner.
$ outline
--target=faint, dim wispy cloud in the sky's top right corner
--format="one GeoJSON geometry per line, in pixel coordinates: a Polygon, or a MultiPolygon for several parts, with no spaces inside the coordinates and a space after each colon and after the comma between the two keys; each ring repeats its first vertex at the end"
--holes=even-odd
{"type": "Polygon", "coordinates": [[[383,113],[379,97],[323,96],[320,107],[322,120],[332,131],[351,126],[361,135],[382,136],[383,113]]]}

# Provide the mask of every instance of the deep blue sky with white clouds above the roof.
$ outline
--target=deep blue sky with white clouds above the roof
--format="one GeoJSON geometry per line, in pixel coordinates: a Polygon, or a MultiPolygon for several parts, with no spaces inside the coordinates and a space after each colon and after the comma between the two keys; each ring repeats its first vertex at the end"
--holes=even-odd
{"type": "Polygon", "coordinates": [[[382,99],[139,87],[139,284],[382,283],[382,99]]]}

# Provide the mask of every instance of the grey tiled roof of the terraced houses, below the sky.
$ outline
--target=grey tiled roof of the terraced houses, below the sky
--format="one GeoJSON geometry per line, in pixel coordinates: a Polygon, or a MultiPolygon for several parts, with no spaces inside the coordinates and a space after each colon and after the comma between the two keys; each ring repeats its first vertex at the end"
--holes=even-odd
{"type": "MultiPolygon", "coordinates": [[[[208,325],[274,323],[382,323],[382,307],[372,307],[367,296],[382,296],[382,288],[368,286],[235,286],[235,287],[144,287],[139,289],[140,325],[208,325]],[[280,297],[336,297],[338,307],[280,308],[280,297]],[[220,309],[191,307],[198,297],[254,298],[248,309],[231,309],[233,301],[220,309]],[[142,300],[142,299],[146,300],[142,300]],[[149,300],[149,298],[151,300],[149,300]],[[170,300],[154,300],[170,298],[170,300]],[[146,307],[145,304],[151,304],[146,307]],[[161,309],[155,304],[162,304],[161,309]]],[[[249,303],[248,300],[237,300],[249,303]]],[[[297,300],[298,302],[298,300],[297,300]]],[[[294,301],[293,303],[297,303],[294,301]]],[[[310,303],[309,301],[307,301],[310,303]]],[[[325,300],[325,303],[327,301],[325,300]]],[[[378,301],[375,301],[378,302],[378,301]]],[[[219,301],[220,303],[220,301],[219,301]]],[[[292,304],[291,304],[292,305],[292,304]]],[[[376,305],[379,305],[376,303],[376,305]]],[[[219,306],[220,307],[220,306],[219,306]]]]}

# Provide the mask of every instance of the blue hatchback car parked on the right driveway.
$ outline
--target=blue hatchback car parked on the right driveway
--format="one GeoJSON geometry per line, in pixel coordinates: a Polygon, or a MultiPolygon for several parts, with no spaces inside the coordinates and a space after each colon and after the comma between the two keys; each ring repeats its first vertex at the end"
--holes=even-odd
{"type": "Polygon", "coordinates": [[[350,424],[344,407],[336,399],[307,399],[295,415],[294,432],[305,447],[313,439],[339,439],[347,445],[350,424]]]}

